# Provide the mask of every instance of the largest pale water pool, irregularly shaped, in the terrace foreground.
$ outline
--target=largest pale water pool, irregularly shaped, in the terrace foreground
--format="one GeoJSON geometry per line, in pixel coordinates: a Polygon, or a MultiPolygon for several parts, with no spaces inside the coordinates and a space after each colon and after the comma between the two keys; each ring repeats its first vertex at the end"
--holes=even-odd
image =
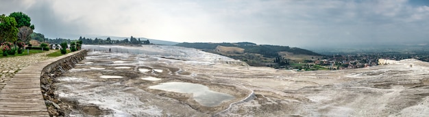
{"type": "Polygon", "coordinates": [[[166,82],[156,86],[149,86],[149,88],[175,93],[192,93],[195,101],[207,107],[215,107],[223,101],[230,101],[235,98],[232,95],[212,91],[207,86],[188,82],[166,82]]]}

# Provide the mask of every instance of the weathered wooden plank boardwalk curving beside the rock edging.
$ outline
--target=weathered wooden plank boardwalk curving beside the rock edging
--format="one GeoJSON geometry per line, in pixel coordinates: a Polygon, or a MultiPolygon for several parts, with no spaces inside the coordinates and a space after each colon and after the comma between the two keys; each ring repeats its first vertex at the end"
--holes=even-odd
{"type": "Polygon", "coordinates": [[[49,116],[40,92],[44,66],[23,68],[0,91],[0,116],[49,116]]]}

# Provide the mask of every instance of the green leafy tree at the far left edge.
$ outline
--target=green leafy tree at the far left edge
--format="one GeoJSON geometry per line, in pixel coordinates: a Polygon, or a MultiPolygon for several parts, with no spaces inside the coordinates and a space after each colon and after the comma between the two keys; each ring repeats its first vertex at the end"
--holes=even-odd
{"type": "Polygon", "coordinates": [[[0,42],[16,41],[16,33],[18,31],[16,21],[13,17],[5,16],[4,14],[0,16],[0,42]]]}

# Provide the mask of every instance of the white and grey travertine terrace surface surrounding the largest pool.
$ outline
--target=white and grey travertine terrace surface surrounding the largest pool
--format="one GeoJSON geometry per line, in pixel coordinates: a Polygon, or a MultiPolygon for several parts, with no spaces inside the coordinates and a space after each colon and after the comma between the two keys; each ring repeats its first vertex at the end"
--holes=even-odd
{"type": "Polygon", "coordinates": [[[147,47],[155,54],[88,52],[86,60],[58,78],[60,97],[75,109],[71,115],[429,115],[429,63],[415,59],[363,69],[296,72],[216,62],[212,60],[219,60],[217,56],[195,54],[193,49],[147,47]],[[160,50],[184,54],[174,57],[160,50]],[[164,82],[202,84],[236,99],[204,107],[192,94],[149,88],[164,82]]]}

